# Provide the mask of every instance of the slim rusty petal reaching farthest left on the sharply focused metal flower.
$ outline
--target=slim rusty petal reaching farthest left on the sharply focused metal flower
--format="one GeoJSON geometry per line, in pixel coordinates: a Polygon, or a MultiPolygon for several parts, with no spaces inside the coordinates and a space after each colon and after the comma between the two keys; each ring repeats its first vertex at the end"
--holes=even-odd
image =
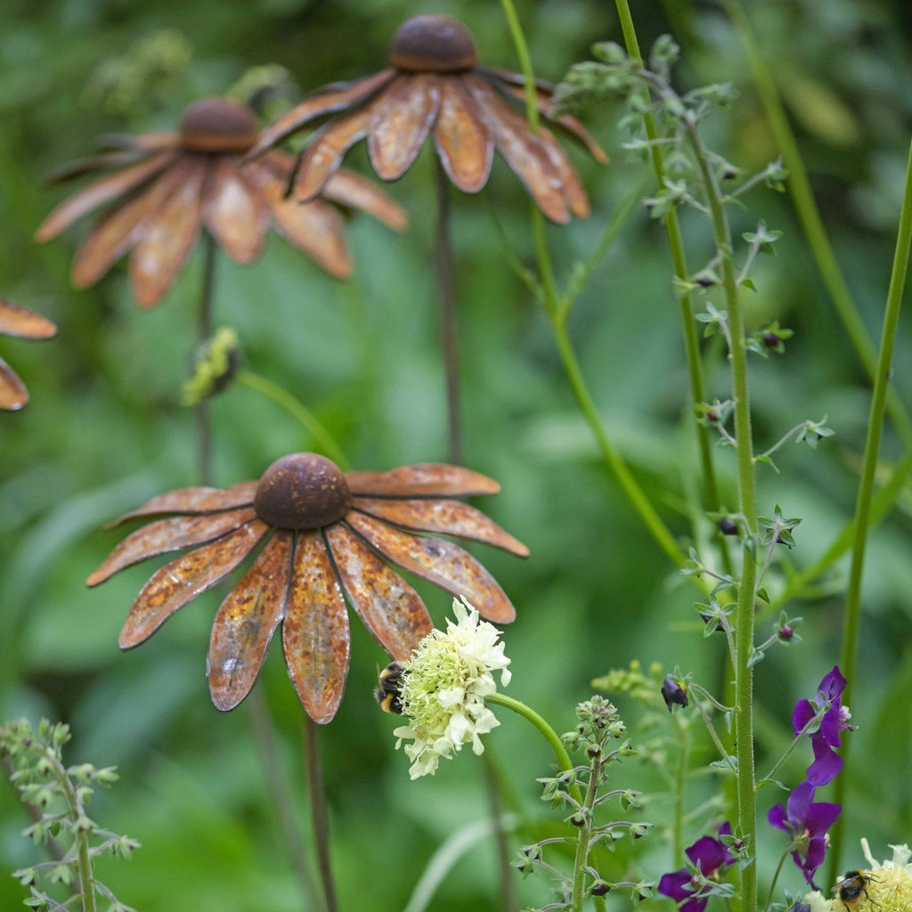
{"type": "Polygon", "coordinates": [[[249,523],[255,515],[253,507],[246,507],[244,510],[232,510],[227,513],[174,516],[145,525],[128,535],[108,555],[104,564],[88,577],[86,586],[98,586],[125,567],[138,564],[155,554],[179,551],[193,544],[211,542],[212,539],[249,523]]]}

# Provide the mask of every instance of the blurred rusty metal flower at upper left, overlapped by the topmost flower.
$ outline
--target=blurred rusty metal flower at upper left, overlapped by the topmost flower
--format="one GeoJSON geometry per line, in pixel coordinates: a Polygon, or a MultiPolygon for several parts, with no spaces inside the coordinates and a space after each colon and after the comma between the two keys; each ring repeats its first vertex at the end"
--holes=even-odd
{"type": "Polygon", "coordinates": [[[73,162],[51,179],[113,173],[58,205],[36,238],[48,241],[110,203],[79,246],[73,285],[93,285],[132,251],[134,295],[141,306],[153,306],[171,287],[202,227],[235,262],[250,263],[262,252],[272,224],[338,277],[352,267],[342,218],[330,202],[363,209],[397,230],[405,227],[405,212],[351,171],[337,172],[321,199],[307,204],[286,199],[292,157],[275,151],[242,165],[258,135],[252,109],[230,98],[203,98],[183,112],[176,133],[109,137],[97,156],[73,162]]]}

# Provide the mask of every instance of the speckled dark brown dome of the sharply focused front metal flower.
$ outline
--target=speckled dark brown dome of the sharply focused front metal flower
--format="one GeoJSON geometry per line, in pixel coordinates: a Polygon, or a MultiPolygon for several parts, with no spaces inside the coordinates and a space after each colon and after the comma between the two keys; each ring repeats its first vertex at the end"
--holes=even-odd
{"type": "Polygon", "coordinates": [[[318,529],[351,508],[351,492],[335,462],[316,453],[292,453],[275,461],[256,486],[254,510],[280,529],[318,529]]]}

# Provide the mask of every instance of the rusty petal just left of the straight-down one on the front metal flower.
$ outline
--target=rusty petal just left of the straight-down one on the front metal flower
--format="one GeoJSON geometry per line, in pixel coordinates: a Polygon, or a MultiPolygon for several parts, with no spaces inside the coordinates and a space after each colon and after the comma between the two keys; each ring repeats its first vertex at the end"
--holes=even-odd
{"type": "Polygon", "coordinates": [[[294,533],[279,530],[212,622],[207,674],[217,710],[233,710],[254,686],[285,610],[294,533]]]}

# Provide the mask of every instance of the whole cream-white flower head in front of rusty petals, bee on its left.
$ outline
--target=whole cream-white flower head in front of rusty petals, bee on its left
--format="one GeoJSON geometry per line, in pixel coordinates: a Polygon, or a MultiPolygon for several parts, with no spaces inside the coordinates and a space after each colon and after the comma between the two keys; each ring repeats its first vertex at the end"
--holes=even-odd
{"type": "Polygon", "coordinates": [[[445,631],[431,630],[401,663],[400,700],[409,724],[393,734],[397,748],[413,741],[405,745],[412,779],[437,772],[440,758],[451,758],[463,744],[482,753],[481,735],[500,725],[484,700],[497,692],[492,672],[501,672],[502,687],[510,682],[501,631],[482,621],[464,598],[453,599],[453,614],[455,623],[448,618],[445,631]]]}

